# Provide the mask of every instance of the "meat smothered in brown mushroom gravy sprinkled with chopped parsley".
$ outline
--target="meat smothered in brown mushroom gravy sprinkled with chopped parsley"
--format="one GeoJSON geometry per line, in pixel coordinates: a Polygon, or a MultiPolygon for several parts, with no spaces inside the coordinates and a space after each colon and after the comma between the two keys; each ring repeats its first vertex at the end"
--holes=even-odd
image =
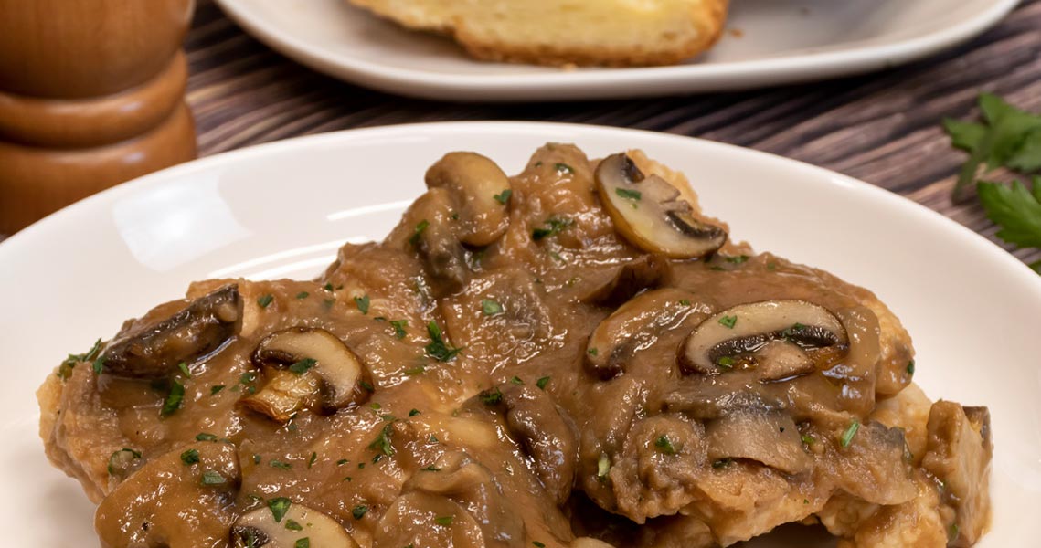
{"type": "Polygon", "coordinates": [[[39,391],[104,547],[970,546],[986,408],[870,291],[728,241],[638,151],[452,153],[316,281],[214,280],[39,391]]]}

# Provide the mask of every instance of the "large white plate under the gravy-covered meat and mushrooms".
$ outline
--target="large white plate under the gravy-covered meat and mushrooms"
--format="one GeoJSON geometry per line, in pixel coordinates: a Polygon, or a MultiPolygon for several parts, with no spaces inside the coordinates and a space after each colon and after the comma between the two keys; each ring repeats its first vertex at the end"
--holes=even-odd
{"type": "Polygon", "coordinates": [[[102,192],[0,244],[0,516],[12,522],[0,544],[94,544],[92,505],[45,462],[36,437],[33,392],[67,353],[193,280],[313,277],[340,242],[382,237],[448,151],[480,151],[515,173],[548,140],[591,156],[642,148],[688,174],[734,238],[873,289],[914,336],[926,392],[991,409],[994,526],[979,546],[1037,545],[1036,273],[937,213],[818,167],[686,137],[517,123],[356,130],[213,156],[102,192]]]}

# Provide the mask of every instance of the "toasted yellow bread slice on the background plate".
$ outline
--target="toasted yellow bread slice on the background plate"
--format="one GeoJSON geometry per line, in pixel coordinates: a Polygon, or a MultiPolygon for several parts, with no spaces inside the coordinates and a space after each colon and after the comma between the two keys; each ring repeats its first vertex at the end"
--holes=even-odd
{"type": "Polygon", "coordinates": [[[479,59],[671,64],[719,37],[729,0],[350,0],[405,27],[445,32],[479,59]]]}

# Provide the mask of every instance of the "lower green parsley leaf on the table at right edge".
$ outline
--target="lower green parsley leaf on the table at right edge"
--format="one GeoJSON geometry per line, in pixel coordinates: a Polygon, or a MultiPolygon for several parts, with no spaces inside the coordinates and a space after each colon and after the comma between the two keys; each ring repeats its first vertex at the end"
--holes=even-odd
{"type": "Polygon", "coordinates": [[[1023,247],[1041,247],[1041,177],[1033,193],[1019,181],[1012,186],[981,181],[976,186],[987,216],[1001,230],[997,237],[1023,247]]]}

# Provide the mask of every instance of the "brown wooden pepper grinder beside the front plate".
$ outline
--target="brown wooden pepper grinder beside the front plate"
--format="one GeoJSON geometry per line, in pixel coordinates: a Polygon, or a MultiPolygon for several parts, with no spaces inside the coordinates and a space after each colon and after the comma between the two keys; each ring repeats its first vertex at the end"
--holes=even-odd
{"type": "Polygon", "coordinates": [[[194,0],[0,0],[0,233],[196,155],[194,0]]]}

